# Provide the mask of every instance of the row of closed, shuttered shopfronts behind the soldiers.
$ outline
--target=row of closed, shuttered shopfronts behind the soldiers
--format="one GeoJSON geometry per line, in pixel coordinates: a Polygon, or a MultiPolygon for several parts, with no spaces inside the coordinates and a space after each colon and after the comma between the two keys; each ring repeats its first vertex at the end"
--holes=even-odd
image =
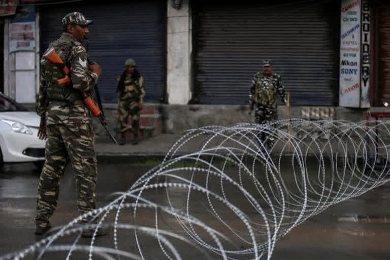
{"type": "Polygon", "coordinates": [[[145,101],[168,111],[169,106],[233,106],[234,111],[247,106],[251,77],[263,59],[272,59],[296,108],[365,111],[390,98],[390,4],[53,2],[21,0],[16,14],[2,19],[2,90],[22,103],[35,102],[40,56],[59,37],[61,18],[72,11],[94,20],[88,53],[102,66],[98,84],[107,109],[116,107],[116,76],[127,57],[136,59],[145,77],[145,101]]]}

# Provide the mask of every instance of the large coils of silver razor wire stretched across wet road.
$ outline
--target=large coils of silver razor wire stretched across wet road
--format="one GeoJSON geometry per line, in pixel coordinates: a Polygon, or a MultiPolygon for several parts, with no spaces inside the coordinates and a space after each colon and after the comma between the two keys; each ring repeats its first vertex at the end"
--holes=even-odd
{"type": "Polygon", "coordinates": [[[389,180],[389,126],[289,119],[189,129],[158,166],[89,213],[97,224],[80,225],[79,216],[0,260],[53,252],[63,259],[271,259],[295,226],[389,180]],[[182,152],[189,145],[199,149],[182,152]],[[110,243],[95,236],[85,243],[81,233],[91,226],[108,226],[110,243]]]}

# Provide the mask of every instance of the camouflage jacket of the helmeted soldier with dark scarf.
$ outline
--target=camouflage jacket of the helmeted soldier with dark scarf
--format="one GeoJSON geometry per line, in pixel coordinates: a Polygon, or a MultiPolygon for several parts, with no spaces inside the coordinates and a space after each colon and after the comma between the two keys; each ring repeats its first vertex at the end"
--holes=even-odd
{"type": "Polygon", "coordinates": [[[136,101],[141,104],[144,102],[144,78],[138,73],[138,71],[135,72],[136,73],[133,74],[137,74],[136,77],[133,77],[134,75],[129,75],[125,72],[117,77],[118,103],[123,100],[136,101]],[[121,83],[122,77],[123,83],[121,83]]]}

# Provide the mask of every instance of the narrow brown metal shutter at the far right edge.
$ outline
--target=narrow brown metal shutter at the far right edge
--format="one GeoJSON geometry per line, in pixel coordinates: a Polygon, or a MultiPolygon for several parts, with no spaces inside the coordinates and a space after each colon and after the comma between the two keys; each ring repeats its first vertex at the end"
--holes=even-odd
{"type": "Polygon", "coordinates": [[[378,10],[378,98],[379,104],[390,101],[390,5],[378,10]]]}

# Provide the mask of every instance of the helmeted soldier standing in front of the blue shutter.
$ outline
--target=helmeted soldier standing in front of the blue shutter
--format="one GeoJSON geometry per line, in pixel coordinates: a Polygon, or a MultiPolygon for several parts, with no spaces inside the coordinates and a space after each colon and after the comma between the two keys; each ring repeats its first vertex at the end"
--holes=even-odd
{"type": "Polygon", "coordinates": [[[138,143],[138,131],[140,128],[140,110],[144,102],[144,79],[135,69],[137,63],[129,58],[124,62],[125,70],[117,77],[116,93],[118,95],[118,131],[121,135],[120,145],[125,144],[125,132],[127,130],[128,117],[132,118],[133,144],[138,143]]]}

